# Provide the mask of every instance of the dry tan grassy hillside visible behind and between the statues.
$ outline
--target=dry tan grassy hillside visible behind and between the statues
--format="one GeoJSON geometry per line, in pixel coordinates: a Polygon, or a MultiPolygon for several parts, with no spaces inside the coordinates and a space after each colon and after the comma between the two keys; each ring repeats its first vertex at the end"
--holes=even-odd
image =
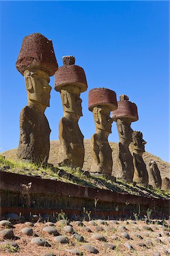
{"type": "MultiPolygon", "coordinates": [[[[112,147],[112,157],[113,157],[113,175],[114,175],[114,170],[117,169],[117,147],[118,144],[114,142],[109,142],[111,147],[112,147]]],[[[58,146],[59,146],[59,141],[51,141],[50,142],[50,154],[49,154],[49,163],[54,164],[54,166],[57,165],[58,163],[58,146]]],[[[84,147],[85,147],[85,157],[84,157],[84,165],[83,165],[83,170],[84,171],[89,171],[91,167],[91,146],[90,146],[90,139],[84,139],[84,147]]],[[[2,155],[6,156],[7,159],[14,159],[16,160],[16,151],[17,148],[14,150],[8,150],[3,153],[2,155]]],[[[160,170],[160,174],[163,177],[170,177],[170,164],[168,162],[164,162],[162,159],[158,158],[158,156],[152,155],[148,152],[145,152],[143,154],[143,160],[145,161],[148,169],[148,161],[149,160],[154,160],[158,164],[158,168],[160,170]]]]}

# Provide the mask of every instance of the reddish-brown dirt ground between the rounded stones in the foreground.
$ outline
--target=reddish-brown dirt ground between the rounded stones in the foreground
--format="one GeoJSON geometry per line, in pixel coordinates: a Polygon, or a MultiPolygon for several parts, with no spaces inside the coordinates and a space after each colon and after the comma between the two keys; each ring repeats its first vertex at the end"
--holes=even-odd
{"type": "MultiPolygon", "coordinates": [[[[56,254],[56,256],[73,255],[66,252],[66,249],[78,249],[81,251],[81,253],[83,253],[83,255],[93,255],[83,249],[82,246],[84,244],[94,246],[99,251],[99,253],[97,254],[99,256],[154,256],[156,255],[155,253],[159,253],[161,256],[163,256],[170,254],[170,233],[169,236],[165,234],[166,231],[170,231],[170,228],[168,226],[170,225],[170,221],[167,221],[167,225],[165,226],[158,224],[158,222],[156,222],[155,224],[146,224],[145,221],[141,220],[138,220],[136,224],[134,224],[131,220],[128,220],[128,222],[129,224],[126,221],[118,221],[118,224],[115,224],[112,221],[107,221],[107,225],[106,223],[103,225],[99,224],[99,222],[97,223],[96,220],[97,226],[102,226],[102,228],[104,229],[101,232],[96,232],[96,226],[91,226],[88,221],[83,221],[83,224],[90,228],[92,233],[87,232],[82,226],[78,226],[75,222],[70,222],[70,225],[73,225],[74,232],[77,232],[81,236],[83,236],[85,242],[78,242],[75,240],[75,238],[71,238],[71,234],[65,234],[65,232],[63,231],[63,225],[59,224],[58,222],[54,223],[54,226],[56,226],[58,233],[60,235],[64,234],[67,236],[69,240],[69,243],[67,244],[57,243],[54,241],[54,236],[52,234],[42,232],[42,229],[46,226],[45,223],[36,222],[33,227],[29,227],[33,229],[33,236],[35,236],[36,234],[37,236],[44,238],[46,241],[48,241],[51,247],[33,245],[31,243],[31,239],[33,237],[21,233],[21,230],[27,225],[25,223],[14,224],[12,230],[15,237],[12,241],[18,243],[19,250],[16,253],[9,253],[7,249],[2,248],[0,245],[0,255],[43,256],[47,252],[56,254]],[[124,230],[120,230],[120,226],[126,227],[126,232],[129,234],[130,240],[121,236],[124,230]],[[144,226],[149,226],[152,230],[146,230],[145,228],[143,228],[144,226]],[[97,241],[92,238],[92,234],[94,233],[102,234],[107,239],[107,242],[112,243],[112,245],[116,246],[116,248],[114,250],[106,249],[104,246],[104,241],[97,241]],[[160,235],[158,235],[157,233],[160,233],[160,235]],[[140,234],[143,239],[141,240],[140,238],[138,238],[137,234],[140,234]],[[117,240],[113,240],[111,238],[111,236],[113,235],[117,236],[117,240]],[[156,238],[160,238],[162,242],[159,243],[158,241],[156,241],[156,238]],[[147,245],[147,240],[150,240],[152,242],[152,245],[147,245]],[[124,244],[126,242],[130,243],[130,245],[133,246],[133,250],[129,250],[127,247],[125,247],[124,244]],[[139,246],[138,242],[145,243],[146,246],[139,246]],[[167,250],[169,254],[167,254],[165,250],[167,250]]],[[[5,227],[0,228],[0,230],[3,229],[5,229],[5,227]]],[[[3,238],[0,238],[0,243],[2,241],[8,240],[3,240],[3,238]]]]}

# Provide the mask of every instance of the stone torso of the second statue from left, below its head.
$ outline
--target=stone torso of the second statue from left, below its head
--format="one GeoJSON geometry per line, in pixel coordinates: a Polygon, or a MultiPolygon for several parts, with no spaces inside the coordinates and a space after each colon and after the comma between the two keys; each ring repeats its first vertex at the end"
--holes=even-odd
{"type": "Polygon", "coordinates": [[[59,165],[82,167],[84,162],[83,134],[78,123],[66,117],[59,121],[59,165]]]}

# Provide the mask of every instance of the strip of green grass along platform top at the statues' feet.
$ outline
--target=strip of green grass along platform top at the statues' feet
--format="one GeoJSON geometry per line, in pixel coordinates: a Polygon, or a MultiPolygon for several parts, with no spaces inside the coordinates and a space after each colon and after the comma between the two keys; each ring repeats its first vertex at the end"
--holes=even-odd
{"type": "Polygon", "coordinates": [[[43,179],[50,179],[55,177],[56,180],[66,183],[78,184],[87,187],[109,189],[111,191],[129,193],[131,195],[144,195],[147,192],[152,197],[157,198],[169,198],[170,193],[168,191],[161,191],[160,189],[151,189],[150,187],[134,186],[132,183],[124,183],[121,180],[113,182],[111,180],[101,177],[86,176],[80,168],[65,167],[53,167],[52,165],[42,166],[41,164],[34,164],[24,162],[22,160],[10,160],[3,159],[0,156],[0,169],[6,172],[12,172],[15,174],[40,176],[43,179]],[[59,171],[63,170],[64,175],[59,175],[59,171]]]}

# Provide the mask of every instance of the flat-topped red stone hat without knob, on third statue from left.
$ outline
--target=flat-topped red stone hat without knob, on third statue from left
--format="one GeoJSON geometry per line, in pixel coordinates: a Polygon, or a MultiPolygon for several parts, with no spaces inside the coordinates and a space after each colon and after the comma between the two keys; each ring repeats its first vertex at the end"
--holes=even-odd
{"type": "Polygon", "coordinates": [[[108,106],[112,111],[117,109],[116,93],[107,88],[94,88],[88,93],[88,109],[92,111],[95,106],[108,106]]]}

